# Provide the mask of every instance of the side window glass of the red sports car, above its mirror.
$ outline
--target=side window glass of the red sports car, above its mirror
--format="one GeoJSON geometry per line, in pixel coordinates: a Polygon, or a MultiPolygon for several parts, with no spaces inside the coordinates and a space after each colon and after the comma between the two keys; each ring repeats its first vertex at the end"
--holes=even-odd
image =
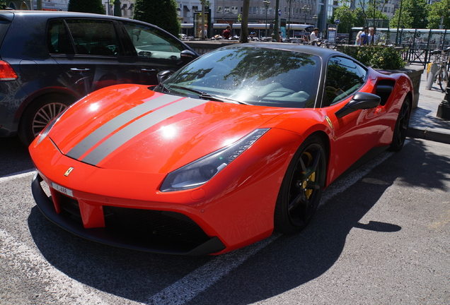
{"type": "Polygon", "coordinates": [[[345,57],[328,61],[323,107],[345,99],[364,85],[365,68],[345,57]]]}

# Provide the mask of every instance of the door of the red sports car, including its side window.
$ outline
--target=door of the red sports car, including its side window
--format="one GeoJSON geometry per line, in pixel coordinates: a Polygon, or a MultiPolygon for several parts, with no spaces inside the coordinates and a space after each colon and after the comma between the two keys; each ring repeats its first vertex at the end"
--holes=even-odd
{"type": "MultiPolygon", "coordinates": [[[[344,56],[328,60],[323,107],[341,109],[351,100],[367,81],[367,68],[344,56]]],[[[379,107],[360,109],[340,118],[333,118],[335,153],[341,156],[336,162],[340,172],[350,167],[371,148],[376,147],[380,137],[379,107]]]]}

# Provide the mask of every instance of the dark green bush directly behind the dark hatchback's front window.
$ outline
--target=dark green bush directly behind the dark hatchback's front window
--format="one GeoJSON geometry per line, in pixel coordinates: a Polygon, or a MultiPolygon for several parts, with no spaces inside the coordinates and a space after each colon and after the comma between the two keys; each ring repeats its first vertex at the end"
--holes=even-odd
{"type": "Polygon", "coordinates": [[[151,23],[178,37],[181,27],[177,7],[175,0],[136,0],[133,19],[151,23]]]}

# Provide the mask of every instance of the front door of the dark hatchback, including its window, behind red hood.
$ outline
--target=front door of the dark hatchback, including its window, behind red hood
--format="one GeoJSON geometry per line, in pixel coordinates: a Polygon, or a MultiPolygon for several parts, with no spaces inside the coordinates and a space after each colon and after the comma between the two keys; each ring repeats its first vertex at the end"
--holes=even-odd
{"type": "Polygon", "coordinates": [[[187,48],[180,40],[151,25],[132,21],[122,21],[122,25],[132,45],[140,83],[156,85],[158,72],[183,66],[180,54],[187,48]]]}

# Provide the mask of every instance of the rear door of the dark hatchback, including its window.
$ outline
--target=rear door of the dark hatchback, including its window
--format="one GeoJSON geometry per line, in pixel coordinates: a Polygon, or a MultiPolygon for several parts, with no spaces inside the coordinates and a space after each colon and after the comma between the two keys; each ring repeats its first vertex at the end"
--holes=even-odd
{"type": "Polygon", "coordinates": [[[50,20],[47,47],[80,96],[117,83],[138,83],[132,54],[117,35],[113,20],[50,20]]]}

